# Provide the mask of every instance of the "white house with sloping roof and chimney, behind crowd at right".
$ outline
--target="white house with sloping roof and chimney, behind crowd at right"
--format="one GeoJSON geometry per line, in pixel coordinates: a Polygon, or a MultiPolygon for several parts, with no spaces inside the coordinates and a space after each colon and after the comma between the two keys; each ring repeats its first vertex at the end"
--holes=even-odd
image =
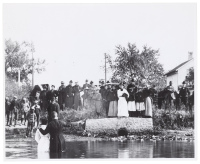
{"type": "Polygon", "coordinates": [[[169,85],[169,82],[172,81],[174,89],[178,90],[178,86],[182,85],[182,82],[185,80],[191,67],[194,67],[194,59],[192,53],[189,53],[187,61],[179,64],[177,67],[165,74],[167,77],[167,85],[169,85]]]}

